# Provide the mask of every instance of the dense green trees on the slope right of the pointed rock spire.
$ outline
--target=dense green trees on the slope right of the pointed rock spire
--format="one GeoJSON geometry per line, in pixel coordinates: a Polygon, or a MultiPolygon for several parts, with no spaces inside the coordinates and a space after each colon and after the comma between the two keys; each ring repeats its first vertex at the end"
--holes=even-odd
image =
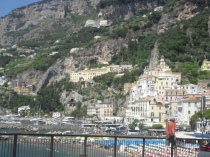
{"type": "Polygon", "coordinates": [[[210,9],[190,20],[182,21],[179,26],[158,38],[160,53],[172,62],[180,62],[174,68],[182,72],[182,76],[191,83],[197,83],[198,69],[204,57],[210,60],[209,13],[210,9]]]}

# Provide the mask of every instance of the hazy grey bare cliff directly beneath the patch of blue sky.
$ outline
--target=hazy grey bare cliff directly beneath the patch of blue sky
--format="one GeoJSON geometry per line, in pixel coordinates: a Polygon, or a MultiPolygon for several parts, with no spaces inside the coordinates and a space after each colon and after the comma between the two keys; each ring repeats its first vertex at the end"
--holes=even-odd
{"type": "Polygon", "coordinates": [[[27,39],[27,36],[24,38],[23,36],[15,37],[5,35],[6,32],[24,30],[31,26],[37,26],[45,22],[46,19],[63,18],[65,14],[87,15],[92,9],[96,8],[97,4],[97,0],[66,0],[63,2],[52,0],[45,3],[37,2],[27,7],[15,9],[0,19],[0,44],[11,45],[21,39],[27,39]]]}

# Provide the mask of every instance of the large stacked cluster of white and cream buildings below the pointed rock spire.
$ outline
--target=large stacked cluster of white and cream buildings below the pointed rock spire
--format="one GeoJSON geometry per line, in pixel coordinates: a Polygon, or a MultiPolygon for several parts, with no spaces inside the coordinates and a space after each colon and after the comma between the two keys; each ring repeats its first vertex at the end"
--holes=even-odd
{"type": "MultiPolygon", "coordinates": [[[[209,68],[210,64],[204,69],[209,68]]],[[[138,119],[151,125],[164,125],[167,118],[175,117],[177,124],[190,125],[191,116],[201,110],[203,96],[206,108],[210,108],[209,95],[205,81],[182,85],[181,73],[172,72],[162,56],[157,65],[146,67],[131,87],[125,121],[138,119]]]]}

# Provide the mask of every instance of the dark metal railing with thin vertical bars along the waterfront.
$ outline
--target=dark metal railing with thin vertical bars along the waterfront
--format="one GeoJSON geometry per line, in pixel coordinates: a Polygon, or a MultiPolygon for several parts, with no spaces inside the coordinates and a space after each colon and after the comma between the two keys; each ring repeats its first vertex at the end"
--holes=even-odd
{"type": "MultiPolygon", "coordinates": [[[[177,139],[178,156],[196,157],[199,139],[177,139]]],[[[84,134],[0,134],[0,157],[166,157],[165,138],[84,134]]]]}

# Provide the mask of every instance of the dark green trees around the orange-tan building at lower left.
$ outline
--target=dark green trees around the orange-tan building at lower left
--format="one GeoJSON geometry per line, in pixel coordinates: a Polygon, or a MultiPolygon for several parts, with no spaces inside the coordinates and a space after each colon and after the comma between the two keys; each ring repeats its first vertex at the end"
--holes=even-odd
{"type": "Polygon", "coordinates": [[[42,88],[37,96],[18,95],[14,91],[5,91],[1,89],[0,107],[11,109],[12,112],[17,113],[20,106],[30,106],[31,113],[35,114],[38,110],[43,113],[50,113],[52,111],[63,111],[64,105],[60,103],[61,91],[66,90],[70,92],[77,88],[77,85],[69,82],[68,79],[63,79],[60,82],[54,82],[51,85],[42,88]]]}

